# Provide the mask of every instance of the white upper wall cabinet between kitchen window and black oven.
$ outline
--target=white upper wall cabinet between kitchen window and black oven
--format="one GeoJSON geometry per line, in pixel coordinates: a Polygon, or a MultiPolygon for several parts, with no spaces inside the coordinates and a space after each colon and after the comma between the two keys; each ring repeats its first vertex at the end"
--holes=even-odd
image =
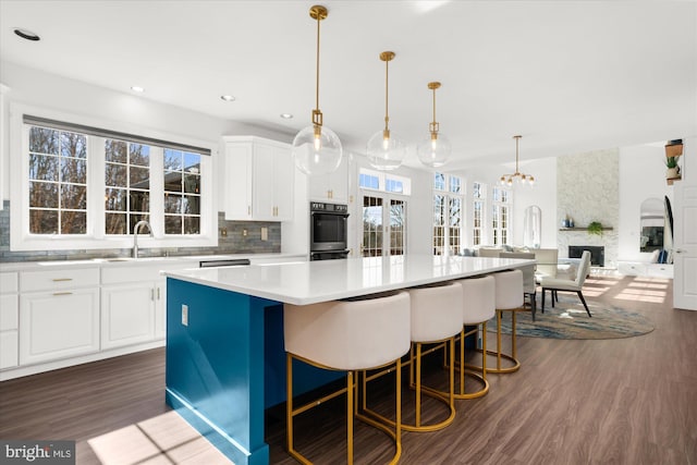
{"type": "Polygon", "coordinates": [[[254,136],[225,136],[227,220],[293,219],[291,146],[254,136]]]}

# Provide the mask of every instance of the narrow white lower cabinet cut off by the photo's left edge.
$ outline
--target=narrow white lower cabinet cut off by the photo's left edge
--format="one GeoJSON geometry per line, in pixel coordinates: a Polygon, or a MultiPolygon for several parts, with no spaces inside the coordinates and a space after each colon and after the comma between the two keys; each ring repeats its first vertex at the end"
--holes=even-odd
{"type": "Polygon", "coordinates": [[[17,366],[20,362],[19,274],[0,273],[0,370],[17,366]]]}

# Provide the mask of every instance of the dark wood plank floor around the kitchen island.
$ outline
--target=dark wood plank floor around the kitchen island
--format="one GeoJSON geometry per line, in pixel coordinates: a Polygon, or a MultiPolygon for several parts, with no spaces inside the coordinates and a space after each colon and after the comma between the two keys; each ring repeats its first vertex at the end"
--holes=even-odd
{"type": "MultiPolygon", "coordinates": [[[[458,402],[447,429],[404,433],[401,463],[697,464],[697,313],[672,308],[667,280],[594,277],[585,289],[656,330],[604,341],[519,338],[521,370],[490,375],[490,393],[458,402]]],[[[78,464],[98,463],[86,440],[167,412],[163,386],[162,350],[4,381],[0,438],[73,439],[78,464]]],[[[341,401],[325,407],[298,419],[297,445],[317,463],[342,463],[341,401]]],[[[282,412],[269,412],[271,462],[293,464],[284,427],[282,412]]],[[[380,435],[356,430],[360,463],[389,455],[380,435]]]]}

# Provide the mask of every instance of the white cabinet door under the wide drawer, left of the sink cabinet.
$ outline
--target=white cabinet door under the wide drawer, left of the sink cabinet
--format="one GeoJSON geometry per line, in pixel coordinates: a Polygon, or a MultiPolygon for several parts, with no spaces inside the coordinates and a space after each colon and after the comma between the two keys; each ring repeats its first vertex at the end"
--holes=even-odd
{"type": "Polygon", "coordinates": [[[20,364],[99,351],[99,287],[20,295],[20,364]]]}

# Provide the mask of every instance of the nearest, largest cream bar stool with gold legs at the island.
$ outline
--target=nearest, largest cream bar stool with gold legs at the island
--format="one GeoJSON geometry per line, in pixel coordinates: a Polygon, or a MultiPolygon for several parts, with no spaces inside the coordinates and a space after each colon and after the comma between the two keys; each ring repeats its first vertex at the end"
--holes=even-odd
{"type": "Polygon", "coordinates": [[[401,357],[409,351],[409,294],[398,292],[377,294],[359,299],[333,301],[311,305],[283,307],[283,332],[286,352],[286,440],[289,454],[310,464],[293,445],[293,418],[325,401],[346,393],[347,463],[353,464],[353,419],[357,415],[354,376],[357,371],[395,364],[396,420],[394,429],[370,418],[362,420],[384,431],[395,445],[391,464],[402,454],[401,357]],[[293,406],[293,359],[313,366],[346,372],[346,387],[308,402],[293,406]]]}

